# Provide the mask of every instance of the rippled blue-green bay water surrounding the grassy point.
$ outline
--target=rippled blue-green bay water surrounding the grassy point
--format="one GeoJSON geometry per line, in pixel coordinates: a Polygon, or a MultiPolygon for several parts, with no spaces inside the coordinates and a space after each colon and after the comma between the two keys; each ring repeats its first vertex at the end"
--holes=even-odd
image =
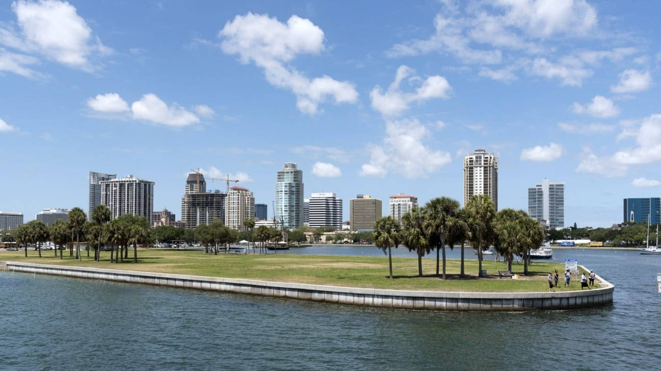
{"type": "MultiPolygon", "coordinates": [[[[289,253],[381,253],[341,249],[289,253]]],[[[555,255],[613,283],[614,305],[413,312],[0,272],[0,370],[660,369],[661,256],[555,255]]]]}

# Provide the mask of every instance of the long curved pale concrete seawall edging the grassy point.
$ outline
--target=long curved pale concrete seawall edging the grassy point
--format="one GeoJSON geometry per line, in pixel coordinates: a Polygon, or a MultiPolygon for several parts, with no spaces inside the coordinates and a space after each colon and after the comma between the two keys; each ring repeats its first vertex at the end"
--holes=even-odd
{"type": "Polygon", "coordinates": [[[596,281],[601,281],[604,286],[592,290],[564,292],[440,292],[307,285],[14,261],[0,262],[0,265],[1,263],[4,263],[5,269],[9,271],[414,310],[512,312],[587,308],[612,304],[613,290],[615,289],[613,285],[599,276],[596,277],[596,281]]]}

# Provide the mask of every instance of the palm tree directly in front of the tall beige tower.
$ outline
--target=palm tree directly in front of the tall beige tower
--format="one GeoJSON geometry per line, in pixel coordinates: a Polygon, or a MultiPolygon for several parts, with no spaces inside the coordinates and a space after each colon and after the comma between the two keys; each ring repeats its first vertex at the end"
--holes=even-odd
{"type": "Polygon", "coordinates": [[[481,273],[482,250],[489,246],[492,239],[496,208],[488,195],[473,195],[466,203],[465,209],[471,214],[471,245],[473,248],[477,247],[478,269],[481,273]]]}

